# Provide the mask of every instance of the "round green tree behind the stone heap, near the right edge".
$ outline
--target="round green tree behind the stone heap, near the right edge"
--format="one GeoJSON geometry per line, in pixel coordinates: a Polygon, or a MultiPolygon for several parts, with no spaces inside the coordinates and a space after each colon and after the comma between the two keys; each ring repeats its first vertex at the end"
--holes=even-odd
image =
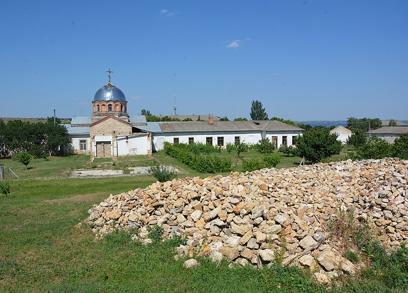
{"type": "Polygon", "coordinates": [[[367,138],[366,143],[356,150],[356,157],[362,159],[379,159],[392,155],[391,145],[377,136],[367,138]]]}

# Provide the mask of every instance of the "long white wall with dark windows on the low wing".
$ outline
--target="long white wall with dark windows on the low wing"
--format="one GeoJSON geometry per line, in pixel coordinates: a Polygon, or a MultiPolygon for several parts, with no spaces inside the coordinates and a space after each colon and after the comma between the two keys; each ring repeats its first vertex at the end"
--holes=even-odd
{"type": "MultiPolygon", "coordinates": [[[[278,137],[278,147],[282,145],[282,137],[288,137],[288,145],[292,143],[292,137],[296,137],[298,134],[301,135],[301,131],[279,131],[279,132],[267,132],[266,138],[269,140],[272,136],[278,137]]],[[[256,131],[231,131],[231,132],[167,132],[167,133],[156,133],[153,134],[152,137],[152,144],[153,149],[158,151],[162,150],[164,146],[164,142],[173,143],[174,138],[179,138],[180,143],[188,143],[188,139],[193,137],[194,142],[200,142],[205,144],[207,137],[213,138],[213,145],[217,145],[217,138],[223,137],[224,138],[224,145],[225,148],[227,143],[235,143],[235,137],[239,136],[241,142],[244,141],[247,144],[256,144],[259,140],[262,139],[261,132],[256,131]]]]}

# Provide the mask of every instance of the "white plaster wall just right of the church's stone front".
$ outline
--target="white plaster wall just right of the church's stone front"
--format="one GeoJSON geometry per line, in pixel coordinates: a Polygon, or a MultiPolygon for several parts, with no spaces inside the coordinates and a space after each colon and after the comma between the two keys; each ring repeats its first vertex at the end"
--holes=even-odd
{"type": "Polygon", "coordinates": [[[116,143],[113,146],[113,155],[136,155],[147,154],[149,146],[147,145],[147,135],[117,137],[118,152],[116,152],[116,143]]]}

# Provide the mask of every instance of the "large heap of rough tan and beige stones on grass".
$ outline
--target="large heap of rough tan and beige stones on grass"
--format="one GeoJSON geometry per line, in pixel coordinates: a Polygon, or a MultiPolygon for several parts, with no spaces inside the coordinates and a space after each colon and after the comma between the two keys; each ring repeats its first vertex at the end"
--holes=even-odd
{"type": "Polygon", "coordinates": [[[214,260],[258,267],[280,257],[324,281],[354,270],[328,237],[339,210],[354,210],[388,247],[406,241],[407,168],[408,161],[385,158],[174,179],[111,195],[88,211],[88,220],[98,235],[125,227],[143,235],[157,224],[165,236],[187,235],[180,253],[199,248],[214,260]]]}

